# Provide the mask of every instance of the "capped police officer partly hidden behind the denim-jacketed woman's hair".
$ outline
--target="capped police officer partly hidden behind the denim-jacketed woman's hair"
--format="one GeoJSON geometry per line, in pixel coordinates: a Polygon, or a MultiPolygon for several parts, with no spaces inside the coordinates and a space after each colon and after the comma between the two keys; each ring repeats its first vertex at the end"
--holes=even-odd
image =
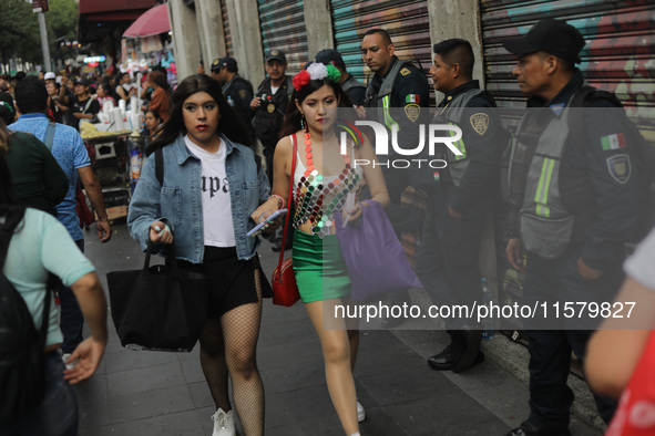
{"type": "Polygon", "coordinates": [[[218,66],[218,80],[223,83],[223,94],[227,98],[227,103],[229,103],[248,128],[248,137],[253,141],[254,135],[250,131],[253,84],[238,75],[236,59],[225,56],[221,60],[218,66]]]}

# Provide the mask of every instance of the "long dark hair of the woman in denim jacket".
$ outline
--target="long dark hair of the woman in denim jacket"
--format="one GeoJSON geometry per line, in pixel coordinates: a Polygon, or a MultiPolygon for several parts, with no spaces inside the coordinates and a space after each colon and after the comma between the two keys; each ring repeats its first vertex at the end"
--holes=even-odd
{"type": "Polygon", "coordinates": [[[221,90],[221,84],[208,75],[195,74],[183,80],[175,92],[173,92],[173,95],[171,95],[171,101],[173,103],[171,117],[164,124],[162,133],[157,138],[147,146],[147,149],[145,150],[147,156],[160,147],[173,144],[180,134],[186,134],[182,108],[186,98],[198,92],[206,92],[218,104],[218,112],[221,113],[218,132],[224,134],[232,142],[243,145],[248,144],[249,141],[246,126],[227,103],[227,100],[221,90]]]}

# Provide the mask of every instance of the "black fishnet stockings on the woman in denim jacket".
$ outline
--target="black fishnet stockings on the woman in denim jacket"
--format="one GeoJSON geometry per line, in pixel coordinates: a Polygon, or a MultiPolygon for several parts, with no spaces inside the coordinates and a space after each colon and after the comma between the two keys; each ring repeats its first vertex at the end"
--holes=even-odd
{"type": "Polygon", "coordinates": [[[217,407],[229,411],[227,374],[234,405],[247,436],[264,434],[264,384],[256,362],[262,321],[262,280],[255,269],[258,301],[209,320],[201,335],[201,365],[217,407]]]}

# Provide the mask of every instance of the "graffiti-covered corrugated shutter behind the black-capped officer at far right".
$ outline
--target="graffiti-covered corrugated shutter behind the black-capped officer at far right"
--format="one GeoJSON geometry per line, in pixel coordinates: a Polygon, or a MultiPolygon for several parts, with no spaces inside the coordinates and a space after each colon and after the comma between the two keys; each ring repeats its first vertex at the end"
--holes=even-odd
{"type": "MultiPolygon", "coordinates": [[[[591,85],[616,93],[638,125],[639,120],[655,118],[655,2],[652,0],[481,0],[487,90],[499,105],[524,107],[525,104],[511,75],[515,58],[502,48],[502,41],[528,33],[545,17],[566,20],[586,39],[579,68],[591,85]]],[[[516,120],[508,118],[505,123],[515,125],[516,120]]],[[[655,132],[643,126],[642,132],[655,142],[655,132]]],[[[515,300],[521,293],[521,276],[506,263],[505,224],[500,218],[499,284],[505,291],[504,299],[515,300]]]]}

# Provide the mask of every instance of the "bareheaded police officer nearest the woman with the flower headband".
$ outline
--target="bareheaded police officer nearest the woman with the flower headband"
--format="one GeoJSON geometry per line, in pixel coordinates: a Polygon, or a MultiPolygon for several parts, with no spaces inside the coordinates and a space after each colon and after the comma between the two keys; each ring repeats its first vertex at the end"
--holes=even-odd
{"type": "MultiPolygon", "coordinates": [[[[393,54],[395,50],[396,46],[386,30],[370,29],[364,34],[362,60],[373,72],[366,90],[364,105],[368,115],[377,115],[377,121],[383,123],[389,132],[395,124],[398,126],[398,145],[401,148],[416,148],[419,142],[417,121],[421,107],[429,106],[428,80],[410,60],[398,59],[393,54]],[[393,115],[389,116],[390,114],[393,115]]],[[[389,156],[378,156],[381,164],[397,157],[401,156],[396,152],[389,156]]],[[[382,166],[382,174],[391,198],[387,215],[396,232],[400,235],[403,230],[415,230],[420,226],[420,218],[417,219],[416,214],[400,206],[400,194],[409,184],[409,172],[382,166]]],[[[362,196],[366,195],[365,187],[362,196]]],[[[407,292],[402,290],[391,295],[391,303],[400,304],[407,299],[407,292]]],[[[402,321],[401,318],[386,318],[382,320],[382,326],[391,329],[402,321]]]]}

